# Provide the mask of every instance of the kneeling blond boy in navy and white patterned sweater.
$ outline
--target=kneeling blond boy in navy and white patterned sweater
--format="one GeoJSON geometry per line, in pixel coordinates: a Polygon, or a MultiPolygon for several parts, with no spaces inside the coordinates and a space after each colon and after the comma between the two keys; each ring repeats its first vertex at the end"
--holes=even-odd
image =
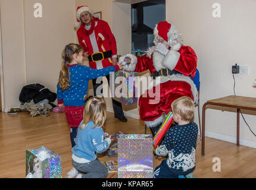
{"type": "Polygon", "coordinates": [[[195,169],[195,149],[198,126],[192,122],[195,105],[186,96],[174,100],[171,104],[173,120],[163,143],[157,147],[157,156],[167,156],[154,170],[154,178],[179,178],[195,169]]]}

